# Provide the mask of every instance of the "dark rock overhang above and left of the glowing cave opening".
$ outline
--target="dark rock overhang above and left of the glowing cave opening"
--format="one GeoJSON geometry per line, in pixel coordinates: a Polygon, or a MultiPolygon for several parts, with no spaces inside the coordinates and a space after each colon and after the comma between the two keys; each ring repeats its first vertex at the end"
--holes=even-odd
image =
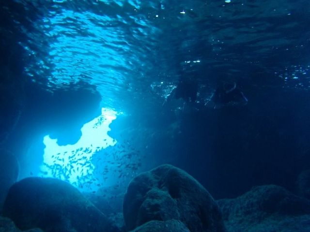
{"type": "Polygon", "coordinates": [[[101,96],[86,83],[54,93],[29,84],[25,92],[24,111],[4,145],[17,157],[31,152],[28,160],[34,166],[42,162],[45,135],[58,139],[59,145],[75,144],[81,136],[81,127],[101,114],[101,96]]]}

